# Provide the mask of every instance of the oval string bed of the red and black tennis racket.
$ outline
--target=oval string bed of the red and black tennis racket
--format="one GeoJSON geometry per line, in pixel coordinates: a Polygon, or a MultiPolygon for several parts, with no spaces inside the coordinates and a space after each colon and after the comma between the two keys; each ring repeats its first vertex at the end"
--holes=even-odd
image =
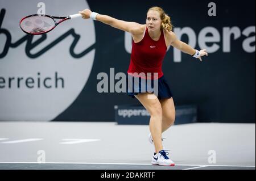
{"type": "Polygon", "coordinates": [[[55,21],[48,16],[30,16],[22,20],[20,27],[27,33],[44,33],[55,27],[55,21]]]}

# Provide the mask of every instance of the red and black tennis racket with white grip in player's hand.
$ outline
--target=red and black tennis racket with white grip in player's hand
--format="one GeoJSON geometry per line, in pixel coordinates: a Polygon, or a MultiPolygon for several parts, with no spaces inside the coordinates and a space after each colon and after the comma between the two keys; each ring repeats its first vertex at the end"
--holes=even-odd
{"type": "Polygon", "coordinates": [[[49,15],[34,14],[22,18],[19,26],[27,34],[42,35],[52,31],[57,25],[65,20],[81,17],[81,14],[69,15],[67,17],[57,17],[49,15]],[[60,19],[56,22],[56,19],[60,19]]]}

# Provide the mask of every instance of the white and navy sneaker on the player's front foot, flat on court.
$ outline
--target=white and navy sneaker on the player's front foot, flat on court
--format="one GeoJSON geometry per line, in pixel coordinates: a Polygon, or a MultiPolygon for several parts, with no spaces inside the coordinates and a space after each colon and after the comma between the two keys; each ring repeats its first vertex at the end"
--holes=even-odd
{"type": "Polygon", "coordinates": [[[175,163],[167,156],[168,154],[169,153],[167,150],[159,151],[153,156],[151,164],[160,166],[175,166],[175,163]]]}

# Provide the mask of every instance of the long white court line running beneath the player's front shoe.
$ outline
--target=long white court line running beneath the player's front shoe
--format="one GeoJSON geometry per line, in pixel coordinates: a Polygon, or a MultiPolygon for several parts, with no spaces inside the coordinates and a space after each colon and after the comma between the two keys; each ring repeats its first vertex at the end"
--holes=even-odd
{"type": "MultiPolygon", "coordinates": [[[[0,162],[0,163],[30,163],[30,164],[81,164],[81,165],[151,165],[150,163],[86,163],[86,162],[0,162]]],[[[251,165],[176,165],[176,166],[198,166],[198,167],[255,167],[251,165]]]]}

